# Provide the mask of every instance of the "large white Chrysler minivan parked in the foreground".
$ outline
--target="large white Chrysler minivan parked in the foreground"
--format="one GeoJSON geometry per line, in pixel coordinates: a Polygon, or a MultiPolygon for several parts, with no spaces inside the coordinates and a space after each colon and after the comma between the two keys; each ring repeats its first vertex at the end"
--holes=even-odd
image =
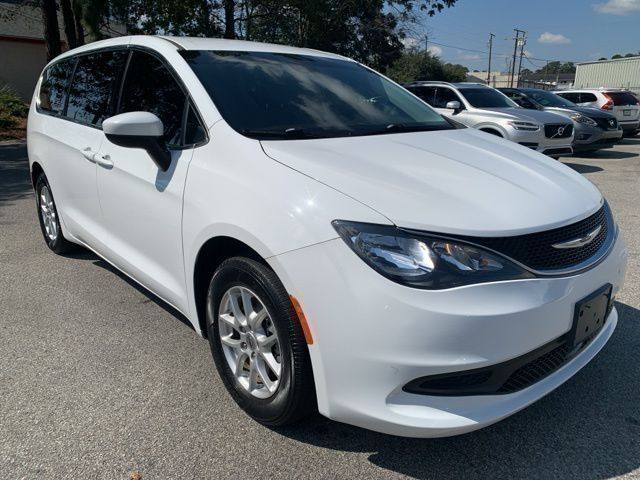
{"type": "Polygon", "coordinates": [[[468,432],[616,327],[627,253],[593,184],[338,55],[92,43],[44,69],[28,152],[49,248],[182,312],[266,425],[468,432]]]}

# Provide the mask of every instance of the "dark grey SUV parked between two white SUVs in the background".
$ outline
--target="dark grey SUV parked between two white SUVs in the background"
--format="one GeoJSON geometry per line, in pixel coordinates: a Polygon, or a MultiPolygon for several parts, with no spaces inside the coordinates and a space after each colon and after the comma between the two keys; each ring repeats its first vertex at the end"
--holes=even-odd
{"type": "Polygon", "coordinates": [[[610,148],[622,138],[615,115],[597,108],[580,107],[555,93],[537,88],[499,88],[523,108],[548,110],[573,120],[573,151],[589,153],[610,148]]]}

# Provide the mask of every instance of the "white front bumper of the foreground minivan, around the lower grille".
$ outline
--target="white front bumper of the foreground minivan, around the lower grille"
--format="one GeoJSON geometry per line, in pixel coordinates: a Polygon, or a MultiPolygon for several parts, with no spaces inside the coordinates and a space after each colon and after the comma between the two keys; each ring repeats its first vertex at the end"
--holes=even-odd
{"type": "Polygon", "coordinates": [[[561,337],[575,303],[606,283],[619,290],[626,248],[578,275],[426,291],[380,276],[341,239],[269,259],[299,300],[318,408],[325,416],[411,437],[457,435],[497,422],[557,388],[605,345],[615,310],[579,354],[511,394],[428,396],[403,391],[411,380],[498,364],[561,337]]]}

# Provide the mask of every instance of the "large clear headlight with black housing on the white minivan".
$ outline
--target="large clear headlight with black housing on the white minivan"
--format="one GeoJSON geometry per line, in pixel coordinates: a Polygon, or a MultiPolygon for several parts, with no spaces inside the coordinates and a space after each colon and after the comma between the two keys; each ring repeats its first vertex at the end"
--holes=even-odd
{"type": "Polygon", "coordinates": [[[534,277],[506,258],[464,242],[387,225],[335,220],[333,227],[371,268],[409,287],[439,290],[534,277]]]}

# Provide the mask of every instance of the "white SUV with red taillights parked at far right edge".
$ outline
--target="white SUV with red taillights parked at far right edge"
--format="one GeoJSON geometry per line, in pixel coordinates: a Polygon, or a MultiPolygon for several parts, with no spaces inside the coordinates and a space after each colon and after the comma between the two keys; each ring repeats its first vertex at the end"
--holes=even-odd
{"type": "Polygon", "coordinates": [[[613,113],[625,136],[640,129],[640,101],[628,90],[585,88],[553,92],[581,107],[593,107],[613,113]]]}

